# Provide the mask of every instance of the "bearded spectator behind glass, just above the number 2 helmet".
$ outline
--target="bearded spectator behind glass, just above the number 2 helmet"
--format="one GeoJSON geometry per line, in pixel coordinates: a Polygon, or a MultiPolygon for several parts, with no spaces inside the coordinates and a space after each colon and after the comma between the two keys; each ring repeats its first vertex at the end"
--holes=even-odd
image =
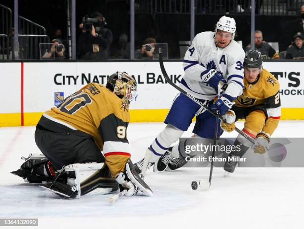
{"type": "MultiPolygon", "coordinates": [[[[255,50],[262,53],[263,59],[279,59],[279,54],[266,42],[263,41],[263,33],[260,30],[254,31],[254,45],[255,50]]],[[[251,45],[247,45],[244,51],[251,49],[251,45]]]]}

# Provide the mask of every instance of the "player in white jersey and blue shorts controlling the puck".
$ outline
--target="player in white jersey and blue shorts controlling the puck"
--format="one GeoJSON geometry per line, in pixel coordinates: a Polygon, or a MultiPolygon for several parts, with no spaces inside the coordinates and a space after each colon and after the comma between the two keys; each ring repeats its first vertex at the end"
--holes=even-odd
{"type": "MultiPolygon", "coordinates": [[[[201,99],[213,110],[219,111],[221,115],[232,107],[232,101],[242,93],[243,88],[244,51],[233,40],[235,30],[234,19],[222,16],[214,32],[202,32],[195,36],[183,61],[185,75],[180,87],[201,99]],[[217,95],[219,81],[227,81],[228,87],[217,103],[209,103],[217,95]]],[[[154,170],[165,168],[159,158],[188,129],[193,117],[203,112],[200,105],[184,94],[179,93],[175,97],[164,121],[167,126],[157,135],[146,153],[146,161],[157,162],[154,170]]],[[[215,137],[216,118],[208,112],[203,114],[204,128],[195,128],[194,133],[198,132],[197,134],[209,141],[215,137]]],[[[135,163],[138,172],[142,170],[143,162],[144,159],[135,163]]]]}

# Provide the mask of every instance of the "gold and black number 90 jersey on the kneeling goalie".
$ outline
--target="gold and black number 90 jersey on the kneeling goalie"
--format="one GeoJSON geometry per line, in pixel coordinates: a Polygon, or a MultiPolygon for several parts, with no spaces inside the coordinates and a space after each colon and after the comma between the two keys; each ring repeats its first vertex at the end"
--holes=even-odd
{"type": "Polygon", "coordinates": [[[127,140],[128,104],[105,86],[89,83],[43,116],[93,136],[112,176],[124,170],[131,156],[127,140]]]}

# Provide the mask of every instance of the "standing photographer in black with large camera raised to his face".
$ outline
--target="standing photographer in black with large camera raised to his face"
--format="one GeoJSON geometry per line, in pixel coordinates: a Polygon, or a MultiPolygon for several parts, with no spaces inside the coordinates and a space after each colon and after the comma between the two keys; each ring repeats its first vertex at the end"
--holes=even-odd
{"type": "Polygon", "coordinates": [[[110,29],[104,28],[105,18],[100,12],[91,14],[91,18],[83,17],[79,25],[81,34],[79,36],[80,59],[100,60],[110,57],[109,48],[113,40],[110,29]]]}

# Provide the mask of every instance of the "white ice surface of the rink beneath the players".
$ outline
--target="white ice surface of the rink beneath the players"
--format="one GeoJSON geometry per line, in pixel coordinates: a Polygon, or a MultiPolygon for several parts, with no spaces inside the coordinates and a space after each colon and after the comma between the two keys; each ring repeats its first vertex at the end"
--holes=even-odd
{"type": "MultiPolygon", "coordinates": [[[[163,128],[163,123],[130,123],[133,162],[163,128]]],[[[281,121],[272,137],[303,138],[303,129],[304,121],[281,121]]],[[[190,137],[191,130],[183,136],[190,137]]],[[[208,179],[210,168],[149,171],[145,180],[153,197],[122,197],[113,204],[110,195],[100,194],[65,200],[9,173],[20,167],[20,156],[39,153],[34,132],[35,127],[0,128],[0,218],[38,218],[43,229],[303,228],[304,168],[236,168],[226,178],[223,168],[214,168],[209,191],[193,191],[191,181],[208,179]]]]}

